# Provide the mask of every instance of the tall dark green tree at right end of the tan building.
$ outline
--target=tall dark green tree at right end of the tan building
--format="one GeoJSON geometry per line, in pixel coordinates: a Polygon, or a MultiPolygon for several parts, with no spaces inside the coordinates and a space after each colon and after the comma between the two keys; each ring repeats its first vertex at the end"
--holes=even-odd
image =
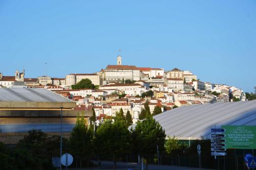
{"type": "Polygon", "coordinates": [[[86,121],[83,116],[78,116],[76,125],[71,132],[69,138],[69,146],[71,153],[77,156],[80,160],[80,167],[82,161],[87,159],[89,166],[89,159],[93,155],[93,132],[86,126],[86,121]]]}

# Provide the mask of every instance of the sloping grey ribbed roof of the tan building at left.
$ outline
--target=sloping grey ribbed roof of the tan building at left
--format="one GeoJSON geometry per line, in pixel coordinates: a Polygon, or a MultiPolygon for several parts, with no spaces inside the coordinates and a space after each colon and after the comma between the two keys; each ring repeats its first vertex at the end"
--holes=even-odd
{"type": "Polygon", "coordinates": [[[0,88],[0,102],[72,102],[41,88],[0,88]]]}

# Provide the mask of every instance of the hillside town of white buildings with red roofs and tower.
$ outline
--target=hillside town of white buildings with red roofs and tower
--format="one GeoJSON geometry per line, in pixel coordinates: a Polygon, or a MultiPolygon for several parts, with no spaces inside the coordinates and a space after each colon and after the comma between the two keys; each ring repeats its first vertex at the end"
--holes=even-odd
{"type": "Polygon", "coordinates": [[[242,89],[223,84],[200,81],[190,71],[174,68],[137,67],[122,65],[122,57],[117,57],[117,65],[108,65],[94,74],[69,74],[65,78],[40,76],[25,78],[25,70],[15,72],[15,76],[0,73],[0,88],[44,88],[76,102],[77,110],[91,110],[96,116],[114,116],[123,109],[130,111],[136,122],[144,103],[148,101],[151,112],[156,106],[162,111],[175,105],[190,106],[207,103],[232,102],[234,98],[245,101],[242,89]],[[72,89],[82,79],[89,79],[97,89],[72,89]],[[129,83],[125,83],[129,80],[129,83]],[[132,82],[132,83],[131,83],[132,82]],[[146,95],[148,91],[153,95],[146,95]]]}

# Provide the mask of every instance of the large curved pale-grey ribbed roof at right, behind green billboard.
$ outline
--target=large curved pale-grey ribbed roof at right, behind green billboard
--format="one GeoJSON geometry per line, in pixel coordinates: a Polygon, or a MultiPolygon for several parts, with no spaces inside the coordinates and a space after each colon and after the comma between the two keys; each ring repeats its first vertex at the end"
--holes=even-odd
{"type": "Polygon", "coordinates": [[[210,129],[222,125],[256,125],[256,100],[182,106],[154,116],[166,136],[207,139],[210,129]]]}

